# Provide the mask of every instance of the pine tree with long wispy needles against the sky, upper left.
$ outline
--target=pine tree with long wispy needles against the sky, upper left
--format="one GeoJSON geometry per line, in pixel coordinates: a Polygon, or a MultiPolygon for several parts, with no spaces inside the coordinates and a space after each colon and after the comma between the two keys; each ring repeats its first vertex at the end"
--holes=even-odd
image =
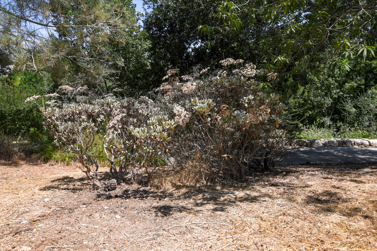
{"type": "Polygon", "coordinates": [[[5,0],[0,20],[0,47],[16,70],[92,85],[114,82],[124,59],[111,48],[139,32],[130,0],[5,0]]]}

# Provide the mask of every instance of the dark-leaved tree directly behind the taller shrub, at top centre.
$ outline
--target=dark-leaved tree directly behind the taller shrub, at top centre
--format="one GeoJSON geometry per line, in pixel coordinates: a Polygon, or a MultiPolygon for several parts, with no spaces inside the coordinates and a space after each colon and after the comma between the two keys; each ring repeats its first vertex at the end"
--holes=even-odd
{"type": "Polygon", "coordinates": [[[153,83],[159,85],[165,68],[181,69],[185,74],[195,65],[217,65],[222,59],[232,57],[259,62],[261,55],[256,43],[245,34],[238,37],[223,36],[208,49],[207,34],[199,33],[200,24],[218,23],[218,3],[214,0],[144,0],[146,14],[143,28],[150,41],[149,57],[153,83]],[[150,11],[148,11],[150,10],[150,11]]]}

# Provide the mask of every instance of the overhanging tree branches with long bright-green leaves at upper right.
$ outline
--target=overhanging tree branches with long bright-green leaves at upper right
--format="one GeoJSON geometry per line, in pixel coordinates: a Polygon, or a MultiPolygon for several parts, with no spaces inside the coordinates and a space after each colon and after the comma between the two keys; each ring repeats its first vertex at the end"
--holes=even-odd
{"type": "Polygon", "coordinates": [[[217,25],[199,26],[210,38],[207,45],[248,33],[263,53],[262,67],[278,72],[287,89],[310,81],[323,67],[349,70],[355,56],[374,56],[375,1],[226,0],[219,6],[217,25]],[[263,33],[255,36],[256,29],[263,33]]]}

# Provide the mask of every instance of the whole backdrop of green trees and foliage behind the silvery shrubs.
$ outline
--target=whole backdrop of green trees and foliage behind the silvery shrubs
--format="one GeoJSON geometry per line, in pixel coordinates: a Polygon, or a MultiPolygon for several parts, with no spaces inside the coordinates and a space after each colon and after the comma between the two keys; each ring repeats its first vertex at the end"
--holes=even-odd
{"type": "MultiPolygon", "coordinates": [[[[229,75],[219,82],[207,78],[217,78],[219,61],[232,57],[258,65],[252,70],[276,73],[270,79],[257,76],[261,82],[257,88],[268,97],[281,94],[279,100],[287,107],[279,116],[283,120],[280,128],[331,132],[334,137],[377,135],[375,2],[144,0],[144,7],[140,19],[143,15],[135,12],[130,0],[0,0],[0,132],[18,138],[43,132],[38,105],[25,103],[27,97],[41,96],[38,102],[43,106],[44,95],[59,93],[61,85],[75,90],[87,86],[97,94],[113,93],[113,98],[136,97],[158,87],[171,68],[179,68],[180,75],[192,73],[192,83],[207,81],[206,88],[212,88],[182,96],[179,88],[187,81],[174,76],[181,83],[177,86],[182,85],[170,90],[174,102],[186,102],[184,98],[190,95],[194,100],[215,100],[218,97],[213,95],[220,91],[225,110],[227,106],[240,110],[240,104],[230,102],[237,96],[227,96],[231,88],[222,90],[225,82],[233,81],[229,75]],[[200,75],[208,66],[208,75],[200,75]]],[[[185,85],[185,92],[190,88],[193,85],[185,85]]],[[[199,83],[194,89],[201,88],[199,83]]],[[[161,95],[153,100],[169,119],[176,116],[176,107],[172,110],[161,95]]],[[[187,102],[189,105],[180,105],[185,110],[192,106],[187,102]]],[[[220,107],[211,109],[215,108],[220,107]]],[[[127,109],[136,108],[127,105],[127,109]]],[[[111,121],[117,115],[108,111],[106,116],[111,121]]],[[[138,115],[133,116],[127,115],[122,123],[138,120],[138,115]]],[[[194,123],[199,117],[192,114],[191,118],[194,123]]],[[[215,118],[208,118],[215,123],[215,118]]],[[[187,128],[199,130],[190,123],[187,128]]],[[[106,130],[98,126],[96,131],[94,144],[98,146],[106,130]]],[[[126,140],[128,136],[121,137],[126,140]]],[[[216,137],[220,136],[210,140],[216,137]]],[[[190,145],[189,141],[185,144],[190,145]]],[[[121,157],[115,149],[107,154],[116,176],[123,166],[120,158],[128,161],[128,157],[121,157]]],[[[153,158],[155,163],[160,161],[153,158]]],[[[208,157],[204,163],[211,166],[216,161],[208,157]]]]}

